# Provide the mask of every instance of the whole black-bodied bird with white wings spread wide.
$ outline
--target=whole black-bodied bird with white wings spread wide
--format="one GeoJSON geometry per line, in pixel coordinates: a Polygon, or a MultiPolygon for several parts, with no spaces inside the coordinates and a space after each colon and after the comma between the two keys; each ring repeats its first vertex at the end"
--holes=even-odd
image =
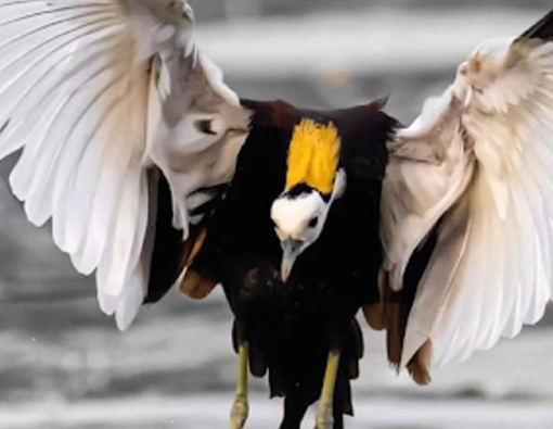
{"type": "Polygon", "coordinates": [[[381,101],[240,99],[193,22],[184,0],[0,0],[0,157],[21,151],[14,194],[121,330],[176,283],[222,285],[231,428],[248,369],[285,398],[282,429],[318,399],[317,427],[342,428],[361,308],[419,383],[542,317],[553,13],[483,43],[409,127],[381,101]]]}

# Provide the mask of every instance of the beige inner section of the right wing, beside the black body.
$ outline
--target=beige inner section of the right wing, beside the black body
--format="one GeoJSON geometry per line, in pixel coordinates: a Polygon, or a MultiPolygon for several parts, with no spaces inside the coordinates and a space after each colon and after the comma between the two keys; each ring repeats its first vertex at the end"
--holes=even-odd
{"type": "Polygon", "coordinates": [[[471,179],[472,157],[459,134],[461,108],[448,90],[428,100],[421,116],[389,142],[381,235],[384,268],[396,291],[415,249],[471,179]]]}

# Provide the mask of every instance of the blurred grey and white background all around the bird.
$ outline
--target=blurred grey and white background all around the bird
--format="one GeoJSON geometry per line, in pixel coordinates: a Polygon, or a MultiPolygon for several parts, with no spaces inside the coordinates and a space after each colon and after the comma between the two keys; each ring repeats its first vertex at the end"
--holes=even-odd
{"type": "MultiPolygon", "coordinates": [[[[456,65],[489,37],[515,36],[545,0],[190,0],[198,43],[244,98],[337,108],[390,96],[409,124],[456,65]]],[[[171,292],[117,331],[52,243],[27,223],[0,165],[0,428],[227,426],[236,356],[218,291],[203,302],[171,292]]],[[[553,315],[515,340],[416,387],[388,367],[384,338],[364,331],[356,419],[348,428],[553,427],[553,315]]],[[[276,428],[280,400],[252,380],[249,428],[276,428]]],[[[305,428],[313,426],[312,413],[305,428]]]]}

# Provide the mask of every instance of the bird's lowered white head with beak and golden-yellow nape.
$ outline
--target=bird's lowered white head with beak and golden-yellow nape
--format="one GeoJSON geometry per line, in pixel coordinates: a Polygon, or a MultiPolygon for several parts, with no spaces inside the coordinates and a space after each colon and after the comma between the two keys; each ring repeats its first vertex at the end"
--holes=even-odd
{"type": "Polygon", "coordinates": [[[271,207],[283,251],[283,281],[296,258],[320,237],[332,202],[345,189],[338,159],[339,138],[332,124],[305,119],[296,127],[288,149],[286,187],[271,207]]]}

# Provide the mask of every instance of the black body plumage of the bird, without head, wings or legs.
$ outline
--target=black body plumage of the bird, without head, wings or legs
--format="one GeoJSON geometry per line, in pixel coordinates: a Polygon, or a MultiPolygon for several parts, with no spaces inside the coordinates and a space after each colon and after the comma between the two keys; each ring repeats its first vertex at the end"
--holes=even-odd
{"type": "Polygon", "coordinates": [[[282,102],[244,105],[256,112],[252,130],[190,269],[222,283],[235,315],[235,344],[249,344],[252,374],[268,373],[271,395],[286,398],[282,428],[299,427],[321,393],[329,351],[342,352],[334,409],[335,428],[342,428],[343,414],[352,413],[349,380],[358,376],[363,353],[355,316],[378,299],[381,179],[385,141],[396,123],[380,103],[334,112],[297,111],[282,102]],[[284,189],[287,147],[301,117],[337,126],[348,181],[321,237],[282,283],[270,207],[284,189]]]}

